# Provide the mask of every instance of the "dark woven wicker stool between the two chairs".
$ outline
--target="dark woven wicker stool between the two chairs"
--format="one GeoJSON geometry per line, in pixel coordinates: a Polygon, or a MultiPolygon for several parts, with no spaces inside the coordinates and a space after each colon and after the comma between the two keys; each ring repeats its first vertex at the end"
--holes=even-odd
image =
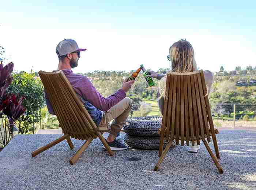
{"type": "MultiPolygon", "coordinates": [[[[157,150],[159,149],[160,135],[158,129],[161,128],[162,117],[145,116],[128,118],[124,124],[126,132],[124,141],[132,148],[157,150]]],[[[164,141],[164,147],[168,142],[164,141]]],[[[175,146],[175,141],[172,147],[175,146]]]]}

